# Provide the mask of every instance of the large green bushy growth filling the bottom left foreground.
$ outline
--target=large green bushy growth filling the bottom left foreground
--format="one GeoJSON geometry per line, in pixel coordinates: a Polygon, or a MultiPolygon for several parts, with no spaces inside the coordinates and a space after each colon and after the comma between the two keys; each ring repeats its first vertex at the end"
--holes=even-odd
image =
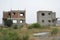
{"type": "Polygon", "coordinates": [[[21,40],[18,34],[12,30],[2,30],[0,40],[21,40]]]}

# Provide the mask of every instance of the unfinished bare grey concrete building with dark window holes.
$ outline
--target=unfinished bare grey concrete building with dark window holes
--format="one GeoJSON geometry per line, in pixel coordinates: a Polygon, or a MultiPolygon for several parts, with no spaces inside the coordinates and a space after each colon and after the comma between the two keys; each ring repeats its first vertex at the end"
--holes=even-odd
{"type": "Polygon", "coordinates": [[[55,26],[56,13],[52,11],[37,11],[37,23],[45,26],[55,26]]]}

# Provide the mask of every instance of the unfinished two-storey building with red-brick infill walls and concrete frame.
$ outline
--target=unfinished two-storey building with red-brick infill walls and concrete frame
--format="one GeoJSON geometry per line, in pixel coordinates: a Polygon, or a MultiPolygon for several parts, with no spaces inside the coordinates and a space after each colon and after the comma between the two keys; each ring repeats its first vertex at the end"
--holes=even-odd
{"type": "MultiPolygon", "coordinates": [[[[25,10],[11,10],[3,12],[3,19],[11,19],[14,24],[25,24],[25,10]]],[[[4,23],[4,21],[3,21],[4,23]]]]}

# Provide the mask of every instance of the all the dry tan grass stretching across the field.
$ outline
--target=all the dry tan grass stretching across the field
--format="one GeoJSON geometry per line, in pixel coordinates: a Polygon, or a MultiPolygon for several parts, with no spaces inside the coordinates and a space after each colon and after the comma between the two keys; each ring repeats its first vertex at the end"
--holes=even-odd
{"type": "MultiPolygon", "coordinates": [[[[35,29],[35,28],[27,29],[27,27],[24,26],[24,27],[18,28],[18,29],[11,28],[11,30],[13,30],[16,33],[18,33],[20,38],[22,38],[24,34],[28,34],[29,35],[29,40],[34,40],[34,38],[32,36],[34,33],[38,33],[38,32],[51,32],[52,28],[57,28],[59,30],[57,36],[60,36],[60,27],[50,27],[50,28],[47,28],[47,29],[35,29]]],[[[5,29],[8,29],[8,28],[3,28],[3,29],[5,30],[5,29]]]]}

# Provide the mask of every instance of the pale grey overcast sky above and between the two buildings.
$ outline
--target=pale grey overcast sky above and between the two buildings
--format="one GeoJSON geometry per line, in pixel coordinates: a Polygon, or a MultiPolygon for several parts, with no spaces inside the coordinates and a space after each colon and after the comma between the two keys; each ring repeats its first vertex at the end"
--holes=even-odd
{"type": "Polygon", "coordinates": [[[0,0],[0,23],[2,23],[3,11],[26,10],[26,22],[36,22],[38,10],[56,12],[60,17],[60,0],[0,0]]]}

